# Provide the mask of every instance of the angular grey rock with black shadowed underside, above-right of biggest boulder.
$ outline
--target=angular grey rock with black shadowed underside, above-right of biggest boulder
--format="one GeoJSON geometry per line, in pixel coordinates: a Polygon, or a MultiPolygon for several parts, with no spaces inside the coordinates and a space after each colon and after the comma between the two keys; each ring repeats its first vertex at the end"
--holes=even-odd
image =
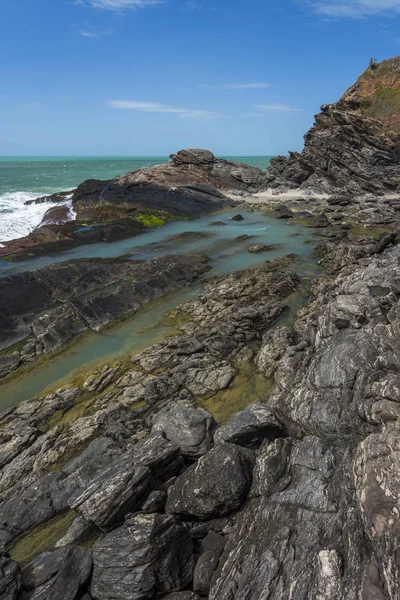
{"type": "Polygon", "coordinates": [[[284,426],[260,402],[251,404],[239,413],[232,415],[215,433],[215,442],[231,442],[240,446],[256,448],[264,439],[282,437],[284,426]]]}

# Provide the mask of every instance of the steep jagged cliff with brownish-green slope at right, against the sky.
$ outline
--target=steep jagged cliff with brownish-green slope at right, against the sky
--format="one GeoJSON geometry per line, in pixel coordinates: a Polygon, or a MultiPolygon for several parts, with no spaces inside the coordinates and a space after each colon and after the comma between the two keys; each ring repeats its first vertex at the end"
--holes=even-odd
{"type": "Polygon", "coordinates": [[[267,187],[313,192],[400,191],[400,57],[372,65],[342,98],[321,106],[301,154],[277,157],[267,187]]]}

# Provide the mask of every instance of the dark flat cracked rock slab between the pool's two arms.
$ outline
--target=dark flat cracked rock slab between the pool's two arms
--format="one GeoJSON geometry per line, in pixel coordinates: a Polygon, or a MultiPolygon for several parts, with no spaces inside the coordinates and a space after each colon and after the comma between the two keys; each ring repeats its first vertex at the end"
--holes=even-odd
{"type": "Polygon", "coordinates": [[[207,269],[200,255],[81,259],[0,279],[0,376],[134,314],[207,269]]]}

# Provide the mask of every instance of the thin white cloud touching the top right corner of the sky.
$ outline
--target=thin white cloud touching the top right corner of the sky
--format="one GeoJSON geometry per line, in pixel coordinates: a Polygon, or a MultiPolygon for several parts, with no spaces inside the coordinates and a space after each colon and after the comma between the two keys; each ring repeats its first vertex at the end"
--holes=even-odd
{"type": "Polygon", "coordinates": [[[362,19],[400,14],[400,0],[300,0],[322,17],[362,19]]]}

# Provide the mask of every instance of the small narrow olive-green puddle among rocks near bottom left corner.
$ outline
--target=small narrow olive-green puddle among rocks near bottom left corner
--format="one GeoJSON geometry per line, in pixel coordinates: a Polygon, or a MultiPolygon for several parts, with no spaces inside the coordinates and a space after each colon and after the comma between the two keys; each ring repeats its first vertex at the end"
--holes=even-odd
{"type": "Polygon", "coordinates": [[[69,510],[46,523],[42,523],[20,538],[12,548],[8,549],[11,558],[20,564],[24,564],[41,552],[53,548],[54,544],[67,533],[77,516],[78,514],[75,511],[69,510]]]}

